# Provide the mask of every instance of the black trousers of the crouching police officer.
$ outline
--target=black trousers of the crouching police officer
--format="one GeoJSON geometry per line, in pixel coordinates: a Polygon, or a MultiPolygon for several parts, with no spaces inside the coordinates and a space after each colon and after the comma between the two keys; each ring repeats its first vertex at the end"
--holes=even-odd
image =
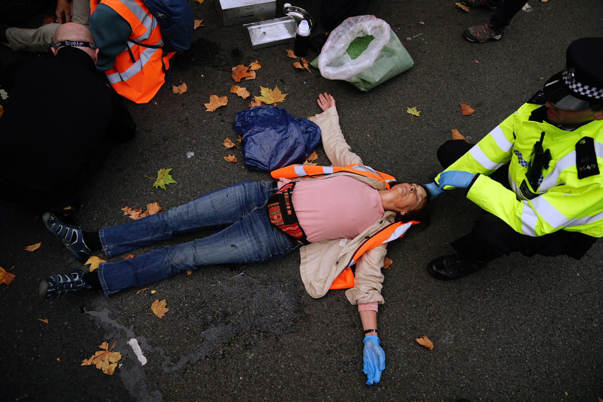
{"type": "MultiPolygon", "coordinates": [[[[473,144],[463,140],[449,140],[438,149],[438,160],[446,169],[472,146],[473,144]]],[[[490,178],[510,189],[508,169],[508,164],[502,166],[491,174],[490,178]]],[[[596,240],[597,237],[566,230],[558,230],[544,236],[526,236],[517,233],[497,216],[484,211],[476,219],[472,231],[454,240],[450,245],[459,253],[484,263],[514,251],[519,251],[527,257],[534,254],[551,257],[567,255],[579,260],[596,240]]]]}

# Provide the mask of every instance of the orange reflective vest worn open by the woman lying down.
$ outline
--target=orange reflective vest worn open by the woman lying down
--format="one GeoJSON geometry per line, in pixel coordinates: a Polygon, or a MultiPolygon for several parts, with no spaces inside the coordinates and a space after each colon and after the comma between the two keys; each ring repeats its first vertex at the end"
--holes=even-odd
{"type": "MultiPolygon", "coordinates": [[[[387,189],[390,188],[391,181],[396,181],[396,178],[392,175],[388,175],[387,173],[376,171],[369,166],[359,164],[348,165],[344,168],[340,168],[338,166],[289,165],[270,172],[270,175],[276,179],[291,179],[295,177],[328,175],[338,172],[350,172],[362,175],[364,177],[376,178],[379,181],[384,181],[387,189]]],[[[346,269],[344,269],[338,275],[338,277],[333,280],[333,283],[331,283],[329,289],[349,289],[350,287],[354,287],[354,273],[352,271],[352,266],[356,264],[356,261],[358,261],[362,254],[371,248],[391,242],[391,240],[399,239],[400,237],[404,236],[406,231],[412,225],[418,223],[419,222],[417,221],[395,222],[366,239],[354,252],[352,259],[350,259],[350,262],[346,266],[346,269]]]]}

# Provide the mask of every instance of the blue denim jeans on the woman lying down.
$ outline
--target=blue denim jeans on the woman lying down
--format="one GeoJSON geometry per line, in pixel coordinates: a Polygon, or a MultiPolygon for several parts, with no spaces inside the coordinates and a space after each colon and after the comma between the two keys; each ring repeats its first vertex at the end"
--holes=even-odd
{"type": "Polygon", "coordinates": [[[297,247],[270,224],[265,208],[276,181],[235,184],[200,196],[164,213],[99,230],[109,257],[202,228],[223,228],[202,239],[165,247],[142,256],[98,265],[106,295],[144,286],[189,269],[223,263],[260,263],[279,259],[297,247]]]}

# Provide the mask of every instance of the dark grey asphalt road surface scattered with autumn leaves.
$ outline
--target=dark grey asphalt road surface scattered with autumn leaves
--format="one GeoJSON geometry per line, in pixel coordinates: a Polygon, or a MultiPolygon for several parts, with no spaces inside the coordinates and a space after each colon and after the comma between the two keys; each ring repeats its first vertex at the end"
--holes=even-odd
{"type": "MultiPolygon", "coordinates": [[[[237,64],[259,61],[257,79],[242,85],[252,95],[259,95],[260,86],[278,86],[287,94],[280,105],[293,116],[318,113],[317,94],[331,93],[346,139],[367,165],[402,181],[426,183],[439,172],[435,151],[450,130],[472,142],[481,139],[563,69],[572,40],[603,36],[600,0],[530,0],[502,40],[482,44],[467,42],[461,33],[487,21],[490,10],[467,13],[453,0],[373,0],[370,13],[391,25],[415,64],[360,92],[317,70],[294,69],[285,52],[292,44],[252,50],[240,26],[221,25],[215,1],[191,1],[203,27],[195,31],[192,48],[173,59],[172,80],[186,83],[188,91],[162,89],[148,104],[128,102],[137,135],[115,149],[84,192],[74,217],[84,228],[127,222],[124,206],[144,209],[157,201],[167,209],[238,181],[268,177],[245,168],[241,149],[222,145],[225,137],[236,138],[235,114],[248,107],[229,93],[237,64]],[[205,111],[210,94],[228,96],[228,105],[205,111]],[[475,113],[461,115],[459,102],[475,113]],[[417,107],[420,116],[411,117],[407,107],[417,107]],[[239,162],[226,162],[228,154],[239,162]],[[172,168],[178,183],[155,189],[145,176],[154,177],[160,168],[172,168]]],[[[277,16],[283,3],[277,1],[277,16]]],[[[320,2],[294,5],[318,20],[320,2]]],[[[320,23],[314,32],[321,32],[320,23]]],[[[311,51],[309,58],[316,55],[311,51]]],[[[0,49],[4,66],[31,57],[0,49]]],[[[60,90],[57,84],[58,78],[49,83],[60,90]]],[[[317,152],[317,162],[328,164],[321,146],[317,152]]],[[[199,269],[140,294],[77,292],[45,302],[37,296],[40,280],[80,265],[36,212],[2,203],[0,213],[0,266],[16,275],[10,286],[0,284],[4,401],[603,398],[603,243],[579,261],[511,255],[458,281],[435,280],[426,264],[449,254],[449,242],[469,231],[479,213],[461,190],[434,202],[429,227],[411,230],[388,247],[393,264],[385,270],[386,303],[379,309],[387,363],[373,386],[364,384],[355,306],[343,291],[309,297],[297,251],[263,265],[199,269]],[[38,250],[23,250],[37,242],[38,250]],[[151,313],[155,299],[167,301],[162,319],[151,313]],[[423,335],[434,342],[433,350],[415,342],[423,335]],[[133,338],[145,365],[127,343],[133,338]],[[123,355],[115,374],[80,366],[97,345],[115,341],[114,350],[123,355]]],[[[146,250],[151,248],[134,254],[146,250]]]]}

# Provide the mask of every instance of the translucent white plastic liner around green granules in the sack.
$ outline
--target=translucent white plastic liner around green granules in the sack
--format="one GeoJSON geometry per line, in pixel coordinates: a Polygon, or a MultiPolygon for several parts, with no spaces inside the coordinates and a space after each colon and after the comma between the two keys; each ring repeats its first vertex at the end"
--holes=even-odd
{"type": "Polygon", "coordinates": [[[350,17],[335,28],[318,56],[320,74],[329,80],[348,80],[370,68],[389,42],[390,24],[372,15],[350,17]],[[367,49],[352,60],[346,49],[356,37],[372,35],[367,49]]]}

